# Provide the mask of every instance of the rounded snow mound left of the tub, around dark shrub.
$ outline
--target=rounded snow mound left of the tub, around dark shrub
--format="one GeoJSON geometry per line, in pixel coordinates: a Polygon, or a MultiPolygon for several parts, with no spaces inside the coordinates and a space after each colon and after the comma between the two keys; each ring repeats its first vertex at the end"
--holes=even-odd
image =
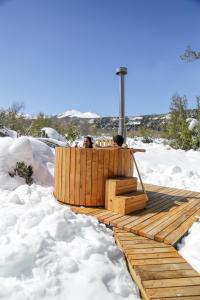
{"type": "Polygon", "coordinates": [[[29,137],[0,138],[0,186],[14,190],[24,183],[19,176],[10,177],[17,162],[33,167],[33,180],[49,186],[53,183],[54,153],[44,143],[29,137]]]}

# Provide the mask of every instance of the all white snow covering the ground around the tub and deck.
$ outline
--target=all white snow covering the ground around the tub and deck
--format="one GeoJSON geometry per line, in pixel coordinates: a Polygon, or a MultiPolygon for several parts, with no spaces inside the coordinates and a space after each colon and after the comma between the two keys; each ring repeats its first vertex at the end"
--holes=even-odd
{"type": "MultiPolygon", "coordinates": [[[[136,154],[144,182],[200,191],[200,152],[128,143],[146,149],[136,154]]],[[[0,138],[0,299],[139,299],[111,230],[54,199],[53,169],[54,150],[44,143],[0,138]],[[17,161],[33,166],[33,185],[10,177],[17,161]]],[[[199,227],[179,245],[198,271],[199,227]]]]}

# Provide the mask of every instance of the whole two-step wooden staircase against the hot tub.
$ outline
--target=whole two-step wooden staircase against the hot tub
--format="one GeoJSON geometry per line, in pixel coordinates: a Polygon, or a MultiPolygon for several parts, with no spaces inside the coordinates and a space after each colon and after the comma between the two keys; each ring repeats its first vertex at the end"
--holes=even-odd
{"type": "Polygon", "coordinates": [[[106,209],[126,215],[143,209],[147,204],[147,195],[137,191],[136,177],[117,177],[106,180],[106,209]]]}

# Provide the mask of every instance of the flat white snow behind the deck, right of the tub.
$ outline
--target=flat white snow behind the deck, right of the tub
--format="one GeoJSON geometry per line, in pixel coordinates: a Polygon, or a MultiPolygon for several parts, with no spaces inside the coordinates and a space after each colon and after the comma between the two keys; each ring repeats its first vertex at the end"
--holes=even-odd
{"type": "Polygon", "coordinates": [[[128,139],[128,145],[143,148],[135,154],[142,179],[146,183],[200,191],[200,152],[175,150],[162,140],[146,144],[128,139]]]}

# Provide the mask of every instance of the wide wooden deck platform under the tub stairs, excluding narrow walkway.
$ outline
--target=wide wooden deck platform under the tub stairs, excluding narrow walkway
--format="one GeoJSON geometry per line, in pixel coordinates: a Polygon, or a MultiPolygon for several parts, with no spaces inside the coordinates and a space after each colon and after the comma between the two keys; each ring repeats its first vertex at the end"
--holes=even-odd
{"type": "Polygon", "coordinates": [[[120,215],[104,208],[71,206],[75,213],[95,216],[100,222],[158,242],[174,245],[200,215],[200,193],[145,185],[145,209],[120,215]]]}

